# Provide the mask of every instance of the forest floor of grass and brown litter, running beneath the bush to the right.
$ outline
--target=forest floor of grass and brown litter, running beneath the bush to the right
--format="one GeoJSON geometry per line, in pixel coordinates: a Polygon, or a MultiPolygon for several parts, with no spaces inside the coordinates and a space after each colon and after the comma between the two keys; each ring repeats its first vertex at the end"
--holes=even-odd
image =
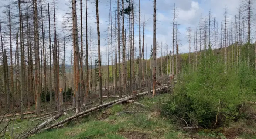
{"type": "MultiPolygon", "coordinates": [[[[169,95],[161,94],[155,98],[145,96],[136,100],[148,108],[131,103],[114,105],[79,120],[65,123],[65,128],[44,131],[28,139],[256,139],[256,133],[253,133],[256,131],[255,121],[248,120],[233,122],[225,128],[215,130],[178,130],[175,123],[160,114],[160,103],[167,100],[169,95]],[[147,112],[117,114],[122,111],[147,112]]],[[[72,114],[72,111],[68,113],[69,116],[72,114]]],[[[65,119],[68,115],[63,115],[57,121],[65,119]]],[[[25,126],[30,125],[32,128],[31,125],[35,123],[16,120],[11,125],[13,124],[14,128],[23,128],[14,129],[13,134],[18,135],[24,129],[29,129],[25,126]]],[[[6,134],[11,135],[11,130],[6,134]]]]}

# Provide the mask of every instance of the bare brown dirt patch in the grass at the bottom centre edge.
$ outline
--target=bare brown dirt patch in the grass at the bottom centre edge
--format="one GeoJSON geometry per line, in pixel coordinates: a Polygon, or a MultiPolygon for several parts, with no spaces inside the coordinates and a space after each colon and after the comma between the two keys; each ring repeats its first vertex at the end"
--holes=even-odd
{"type": "Polygon", "coordinates": [[[120,134],[127,139],[150,139],[150,136],[148,133],[142,133],[139,131],[126,131],[126,132],[120,132],[120,134]]]}

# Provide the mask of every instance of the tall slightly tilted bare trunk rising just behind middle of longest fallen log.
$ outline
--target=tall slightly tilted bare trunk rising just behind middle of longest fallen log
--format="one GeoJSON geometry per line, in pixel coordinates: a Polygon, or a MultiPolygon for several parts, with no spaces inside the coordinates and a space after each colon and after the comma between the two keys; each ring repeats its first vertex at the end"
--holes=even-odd
{"type": "Polygon", "coordinates": [[[99,30],[99,5],[96,0],[97,34],[98,34],[98,58],[99,58],[99,101],[102,104],[102,75],[101,75],[101,57],[100,57],[100,30],[99,30]]]}

